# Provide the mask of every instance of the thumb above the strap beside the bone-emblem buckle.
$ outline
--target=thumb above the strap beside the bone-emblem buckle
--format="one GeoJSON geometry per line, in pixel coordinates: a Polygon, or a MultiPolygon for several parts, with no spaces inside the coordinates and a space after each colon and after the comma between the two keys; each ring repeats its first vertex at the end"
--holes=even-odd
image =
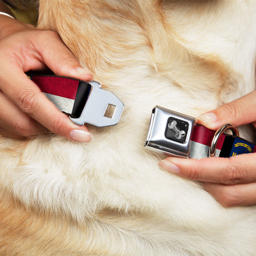
{"type": "Polygon", "coordinates": [[[198,116],[196,122],[212,130],[225,123],[239,126],[256,120],[255,109],[256,90],[198,116]]]}

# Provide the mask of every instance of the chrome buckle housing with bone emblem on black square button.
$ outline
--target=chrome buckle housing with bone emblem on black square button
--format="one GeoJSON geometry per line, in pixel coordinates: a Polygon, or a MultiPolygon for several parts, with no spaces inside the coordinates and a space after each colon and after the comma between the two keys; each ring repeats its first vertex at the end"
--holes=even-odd
{"type": "Polygon", "coordinates": [[[170,109],[152,109],[144,147],[168,156],[187,158],[195,118],[170,109]]]}

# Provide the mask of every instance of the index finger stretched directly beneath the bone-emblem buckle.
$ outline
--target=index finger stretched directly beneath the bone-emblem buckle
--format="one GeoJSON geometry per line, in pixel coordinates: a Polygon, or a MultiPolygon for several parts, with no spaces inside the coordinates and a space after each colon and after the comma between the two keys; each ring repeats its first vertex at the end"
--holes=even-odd
{"type": "Polygon", "coordinates": [[[167,157],[159,166],[179,176],[193,180],[222,184],[256,181],[256,153],[202,159],[167,157]]]}

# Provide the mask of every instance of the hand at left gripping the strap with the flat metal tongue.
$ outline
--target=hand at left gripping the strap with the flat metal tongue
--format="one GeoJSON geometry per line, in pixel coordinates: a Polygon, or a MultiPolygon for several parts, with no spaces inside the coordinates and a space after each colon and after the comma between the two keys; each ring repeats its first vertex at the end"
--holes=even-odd
{"type": "Polygon", "coordinates": [[[50,130],[69,139],[91,140],[87,128],[59,111],[24,73],[49,67],[56,75],[93,79],[57,33],[0,15],[0,52],[1,135],[24,138],[50,130]]]}

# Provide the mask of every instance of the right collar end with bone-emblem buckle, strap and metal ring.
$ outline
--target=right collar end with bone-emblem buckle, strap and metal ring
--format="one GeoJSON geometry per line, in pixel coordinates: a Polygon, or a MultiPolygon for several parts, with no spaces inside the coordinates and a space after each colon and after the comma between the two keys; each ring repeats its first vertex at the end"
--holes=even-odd
{"type": "Polygon", "coordinates": [[[256,152],[256,146],[240,138],[233,125],[213,131],[195,124],[194,117],[160,106],[152,110],[144,146],[170,156],[197,159],[256,152]],[[224,134],[226,129],[232,129],[233,135],[224,134]]]}

